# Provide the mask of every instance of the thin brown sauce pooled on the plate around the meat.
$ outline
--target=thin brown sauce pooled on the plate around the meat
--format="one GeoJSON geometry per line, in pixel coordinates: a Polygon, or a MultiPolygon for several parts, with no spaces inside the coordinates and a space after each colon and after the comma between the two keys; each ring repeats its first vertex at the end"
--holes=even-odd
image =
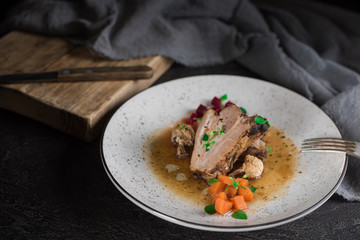
{"type": "MultiPolygon", "coordinates": [[[[189,169],[190,157],[176,158],[176,147],[170,137],[170,127],[153,132],[144,145],[143,157],[159,181],[170,191],[195,204],[208,205],[211,202],[211,198],[205,194],[208,184],[193,178],[189,169]],[[175,169],[172,169],[174,166],[175,169]]],[[[264,161],[262,177],[250,181],[252,186],[257,187],[255,201],[273,200],[286,193],[288,183],[295,174],[298,150],[284,132],[271,126],[265,135],[265,142],[273,150],[268,152],[264,161]]]]}

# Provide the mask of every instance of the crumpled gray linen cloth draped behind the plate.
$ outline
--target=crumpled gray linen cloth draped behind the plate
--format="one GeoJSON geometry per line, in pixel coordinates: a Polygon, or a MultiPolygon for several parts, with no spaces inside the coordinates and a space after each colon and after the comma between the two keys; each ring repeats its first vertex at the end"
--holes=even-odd
{"type": "MultiPolygon", "coordinates": [[[[237,61],[313,101],[360,141],[360,15],[289,0],[26,0],[5,26],[63,36],[112,59],[186,66],[237,61]]],[[[360,200],[360,160],[337,191],[360,200]]]]}

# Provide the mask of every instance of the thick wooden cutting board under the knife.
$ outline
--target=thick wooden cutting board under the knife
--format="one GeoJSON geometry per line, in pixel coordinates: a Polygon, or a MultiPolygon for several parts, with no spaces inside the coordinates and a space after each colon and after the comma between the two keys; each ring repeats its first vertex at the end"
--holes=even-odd
{"type": "Polygon", "coordinates": [[[0,84],[0,107],[92,141],[116,108],[154,83],[172,62],[161,56],[113,61],[61,38],[11,32],[0,39],[0,74],[147,65],[154,75],[136,81],[0,84]]]}

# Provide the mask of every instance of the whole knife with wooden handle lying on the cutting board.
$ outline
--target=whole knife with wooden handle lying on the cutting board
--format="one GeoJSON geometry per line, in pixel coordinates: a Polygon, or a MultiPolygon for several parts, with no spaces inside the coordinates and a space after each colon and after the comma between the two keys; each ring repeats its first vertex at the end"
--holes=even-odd
{"type": "Polygon", "coordinates": [[[146,65],[123,67],[66,68],[54,72],[0,75],[1,83],[146,80],[154,71],[146,65]]]}

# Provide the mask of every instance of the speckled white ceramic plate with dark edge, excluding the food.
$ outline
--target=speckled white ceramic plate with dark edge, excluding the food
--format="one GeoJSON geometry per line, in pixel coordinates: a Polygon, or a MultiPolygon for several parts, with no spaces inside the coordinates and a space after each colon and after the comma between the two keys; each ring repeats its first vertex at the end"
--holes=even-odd
{"type": "MultiPolygon", "coordinates": [[[[287,193],[237,220],[208,215],[204,206],[157,186],[158,180],[142,147],[156,129],[182,119],[199,103],[228,94],[249,114],[266,116],[300,146],[310,137],[341,137],[331,119],[304,97],[277,85],[252,78],[209,75],[174,80],[151,87],[123,104],[109,121],[102,139],[105,170],[129,200],[144,210],[182,226],[223,232],[270,228],[294,221],[321,206],[340,185],[347,167],[345,154],[303,153],[287,193]],[[297,171],[296,171],[297,172],[297,171]],[[145,184],[146,183],[146,184],[145,184]]],[[[255,206],[256,207],[256,206],[255,206]]]]}

